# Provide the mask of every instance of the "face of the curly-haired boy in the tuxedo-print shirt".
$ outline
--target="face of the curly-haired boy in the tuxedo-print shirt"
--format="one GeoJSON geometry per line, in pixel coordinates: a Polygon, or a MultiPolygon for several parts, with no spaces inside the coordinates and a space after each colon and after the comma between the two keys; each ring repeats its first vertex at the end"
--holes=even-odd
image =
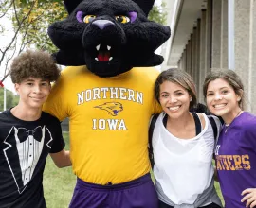
{"type": "Polygon", "coordinates": [[[15,90],[20,95],[19,105],[27,109],[41,109],[50,89],[49,81],[41,78],[27,78],[15,84],[15,90]]]}

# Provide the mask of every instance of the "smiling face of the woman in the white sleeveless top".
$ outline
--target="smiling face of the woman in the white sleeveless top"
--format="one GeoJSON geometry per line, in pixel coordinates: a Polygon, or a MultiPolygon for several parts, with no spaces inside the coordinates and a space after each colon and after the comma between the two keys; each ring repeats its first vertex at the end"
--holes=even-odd
{"type": "Polygon", "coordinates": [[[178,118],[190,109],[192,97],[181,85],[171,81],[160,84],[159,102],[162,109],[171,118],[178,118]]]}

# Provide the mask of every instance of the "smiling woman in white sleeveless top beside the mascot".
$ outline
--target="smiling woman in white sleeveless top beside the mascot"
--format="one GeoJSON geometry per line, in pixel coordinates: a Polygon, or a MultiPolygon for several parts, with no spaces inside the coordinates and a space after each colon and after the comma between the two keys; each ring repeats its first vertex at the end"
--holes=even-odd
{"type": "Polygon", "coordinates": [[[192,78],[178,69],[163,71],[155,99],[163,109],[152,140],[159,207],[222,207],[213,185],[213,129],[204,113],[190,112],[196,105],[192,78]]]}

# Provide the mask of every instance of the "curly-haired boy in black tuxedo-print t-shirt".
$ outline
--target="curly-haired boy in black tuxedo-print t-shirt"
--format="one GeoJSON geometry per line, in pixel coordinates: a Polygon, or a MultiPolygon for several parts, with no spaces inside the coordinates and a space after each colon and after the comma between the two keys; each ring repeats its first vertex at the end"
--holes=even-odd
{"type": "Polygon", "coordinates": [[[54,61],[40,51],[28,50],[10,66],[20,100],[0,113],[1,208],[46,208],[42,182],[48,153],[58,167],[71,165],[59,120],[42,112],[50,82],[59,75],[54,61]]]}

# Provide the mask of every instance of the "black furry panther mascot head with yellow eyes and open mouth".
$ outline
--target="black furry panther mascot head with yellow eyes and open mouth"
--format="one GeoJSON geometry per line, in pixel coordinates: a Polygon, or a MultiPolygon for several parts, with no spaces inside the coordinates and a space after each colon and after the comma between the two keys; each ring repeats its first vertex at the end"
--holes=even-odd
{"type": "Polygon", "coordinates": [[[62,65],[87,65],[100,77],[137,66],[155,66],[155,50],[170,37],[170,28],[147,19],[155,0],[64,0],[69,16],[49,26],[62,65]]]}

